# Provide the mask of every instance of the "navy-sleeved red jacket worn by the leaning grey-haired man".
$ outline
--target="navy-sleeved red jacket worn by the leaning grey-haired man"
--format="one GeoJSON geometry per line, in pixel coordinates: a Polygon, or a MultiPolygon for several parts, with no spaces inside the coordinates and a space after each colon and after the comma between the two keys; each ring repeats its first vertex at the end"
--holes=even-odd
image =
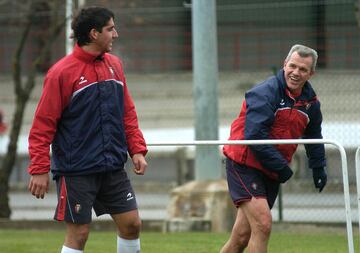
{"type": "MultiPolygon", "coordinates": [[[[246,92],[229,140],[321,139],[321,123],[320,102],[310,83],[294,97],[280,70],[246,92]]],[[[277,179],[277,172],[291,162],[296,148],[296,144],[225,145],[223,152],[233,161],[277,179]]],[[[305,150],[310,168],[326,166],[324,144],[306,144],[305,150]]]]}

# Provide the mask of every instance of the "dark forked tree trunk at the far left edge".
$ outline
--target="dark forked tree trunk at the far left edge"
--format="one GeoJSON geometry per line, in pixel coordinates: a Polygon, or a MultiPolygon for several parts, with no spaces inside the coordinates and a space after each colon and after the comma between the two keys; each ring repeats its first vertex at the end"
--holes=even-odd
{"type": "Polygon", "coordinates": [[[13,116],[13,122],[11,125],[11,132],[9,136],[9,144],[7,153],[4,156],[0,167],[0,218],[10,218],[11,209],[9,205],[9,179],[12,172],[12,169],[15,165],[16,156],[17,156],[17,142],[19,139],[19,134],[22,126],[23,116],[27,102],[29,100],[30,94],[35,86],[35,78],[39,66],[41,66],[46,60],[46,56],[50,50],[51,45],[55,39],[60,35],[61,30],[65,25],[65,18],[59,18],[60,8],[62,4],[61,0],[53,1],[29,1],[29,12],[27,23],[23,28],[22,35],[18,47],[14,54],[13,59],[13,80],[14,80],[14,90],[16,95],[16,104],[15,112],[13,116]],[[38,56],[33,60],[27,75],[27,81],[25,85],[22,85],[22,69],[21,69],[21,58],[25,48],[27,38],[29,36],[30,29],[38,21],[37,12],[39,6],[42,7],[42,4],[48,2],[50,4],[51,16],[50,24],[48,28],[48,38],[44,45],[41,45],[40,52],[38,56]]]}

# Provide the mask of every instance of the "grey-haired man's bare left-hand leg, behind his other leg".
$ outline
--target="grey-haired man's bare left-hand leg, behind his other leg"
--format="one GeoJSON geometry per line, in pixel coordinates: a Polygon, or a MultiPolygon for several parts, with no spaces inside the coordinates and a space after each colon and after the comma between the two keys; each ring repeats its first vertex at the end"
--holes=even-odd
{"type": "Polygon", "coordinates": [[[250,224],[241,208],[238,208],[235,224],[229,240],[220,253],[242,253],[247,247],[251,235],[250,224]]]}

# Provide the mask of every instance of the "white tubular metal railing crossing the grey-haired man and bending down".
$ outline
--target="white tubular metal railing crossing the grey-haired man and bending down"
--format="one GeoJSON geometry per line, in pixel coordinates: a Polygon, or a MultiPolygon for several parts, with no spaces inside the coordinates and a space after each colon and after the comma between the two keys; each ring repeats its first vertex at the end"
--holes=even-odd
{"type": "MultiPolygon", "coordinates": [[[[340,152],[341,168],[343,175],[343,189],[345,201],[345,216],[346,216],[346,230],[348,238],[349,253],[354,253],[354,241],[351,222],[351,207],[350,207],[350,191],[349,191],[349,177],[346,160],[346,152],[344,147],[337,141],[328,139],[282,139],[282,140],[231,140],[231,141],[218,141],[218,140],[202,140],[202,141],[183,141],[183,142],[151,142],[148,146],[204,146],[204,145],[259,145],[259,144],[331,144],[334,145],[340,152]]],[[[356,152],[356,157],[360,156],[360,148],[356,152]]],[[[358,164],[356,165],[356,172],[358,172],[358,164]]],[[[360,194],[360,175],[357,175],[357,189],[358,196],[360,194]]],[[[360,205],[360,198],[358,197],[358,204],[360,205]]],[[[360,217],[360,209],[359,209],[360,217]]],[[[360,229],[360,220],[359,220],[360,229]]]]}

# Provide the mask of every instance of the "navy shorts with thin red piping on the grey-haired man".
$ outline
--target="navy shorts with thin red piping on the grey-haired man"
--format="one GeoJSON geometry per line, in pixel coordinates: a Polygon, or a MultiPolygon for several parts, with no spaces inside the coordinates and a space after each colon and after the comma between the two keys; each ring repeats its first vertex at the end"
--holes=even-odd
{"type": "Polygon", "coordinates": [[[279,182],[229,158],[226,158],[226,175],[230,196],[236,207],[252,197],[265,198],[270,209],[273,207],[279,193],[279,182]]]}

